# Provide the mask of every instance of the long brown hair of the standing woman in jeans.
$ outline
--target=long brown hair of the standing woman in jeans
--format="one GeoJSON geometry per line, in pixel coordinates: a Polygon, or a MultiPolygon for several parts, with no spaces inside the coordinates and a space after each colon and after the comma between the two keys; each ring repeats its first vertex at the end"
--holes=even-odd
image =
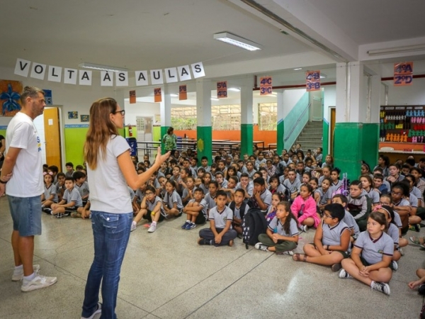
{"type": "Polygon", "coordinates": [[[91,104],[89,131],[84,143],[84,160],[91,169],[96,169],[99,157],[106,159],[106,145],[111,135],[118,135],[115,124],[109,117],[117,111],[117,101],[112,98],[98,99],[91,104]]]}

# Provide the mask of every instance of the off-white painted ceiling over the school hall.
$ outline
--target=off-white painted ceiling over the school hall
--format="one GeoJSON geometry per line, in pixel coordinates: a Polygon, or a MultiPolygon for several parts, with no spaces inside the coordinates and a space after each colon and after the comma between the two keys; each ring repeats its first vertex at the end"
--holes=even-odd
{"type": "MultiPolygon", "coordinates": [[[[242,0],[4,2],[0,67],[14,67],[18,57],[60,67],[77,68],[80,62],[92,62],[141,70],[194,62],[203,62],[205,66],[232,65],[271,57],[296,57],[306,52],[323,55],[312,43],[281,33],[281,26],[262,13],[246,9],[246,1],[242,0]],[[213,40],[212,35],[222,31],[259,43],[263,50],[248,52],[213,40]]],[[[402,4],[395,0],[257,2],[288,21],[294,18],[290,6],[308,4],[313,19],[317,13],[317,17],[331,21],[356,45],[425,37],[423,0],[402,4]]],[[[314,21],[317,25],[322,23],[319,18],[314,21]]],[[[303,30],[302,26],[299,28],[303,30]]],[[[286,71],[276,71],[298,82],[293,72],[293,67],[297,67],[294,61],[285,67],[286,71]]],[[[382,62],[385,61],[368,63],[382,62]]],[[[311,64],[312,68],[324,67],[327,69],[322,72],[334,74],[332,65],[317,65],[314,61],[311,64]]],[[[243,67],[240,71],[244,71],[243,67]]],[[[299,72],[301,79],[303,72],[299,72]]]]}

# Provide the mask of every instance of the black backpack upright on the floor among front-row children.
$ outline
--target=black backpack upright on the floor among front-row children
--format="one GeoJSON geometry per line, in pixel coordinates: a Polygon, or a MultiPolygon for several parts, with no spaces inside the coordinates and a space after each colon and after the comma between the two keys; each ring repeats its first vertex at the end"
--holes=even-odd
{"type": "Polygon", "coordinates": [[[255,245],[260,234],[266,233],[267,221],[261,210],[249,208],[242,222],[242,238],[246,249],[248,245],[255,245]]]}

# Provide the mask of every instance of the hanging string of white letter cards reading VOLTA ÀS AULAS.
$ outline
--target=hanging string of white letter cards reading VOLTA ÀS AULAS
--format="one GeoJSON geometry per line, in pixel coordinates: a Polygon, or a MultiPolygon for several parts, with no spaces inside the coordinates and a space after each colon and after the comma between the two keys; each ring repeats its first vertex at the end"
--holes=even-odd
{"type": "MultiPolygon", "coordinates": [[[[43,65],[37,62],[31,62],[23,59],[16,59],[15,74],[21,77],[30,77],[33,79],[44,80],[47,74],[47,80],[50,82],[63,82],[64,84],[91,85],[93,72],[86,69],[69,69],[67,67],[55,67],[53,65],[43,65]]],[[[198,77],[205,77],[205,70],[202,62],[193,63],[193,65],[183,65],[181,67],[169,67],[168,69],[152,69],[150,71],[135,71],[135,86],[145,86],[150,84],[164,84],[183,82],[198,77]]],[[[128,71],[101,71],[101,86],[113,86],[115,77],[115,86],[129,86],[128,71]],[[115,74],[115,75],[114,75],[115,74]]],[[[131,84],[131,86],[134,86],[131,84]]]]}

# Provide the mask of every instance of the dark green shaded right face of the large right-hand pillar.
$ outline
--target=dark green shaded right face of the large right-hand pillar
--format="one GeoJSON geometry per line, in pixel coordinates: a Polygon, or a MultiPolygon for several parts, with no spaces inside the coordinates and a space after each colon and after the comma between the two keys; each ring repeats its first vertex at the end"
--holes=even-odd
{"type": "Polygon", "coordinates": [[[373,169],[378,164],[379,123],[363,123],[362,159],[373,169]]]}

